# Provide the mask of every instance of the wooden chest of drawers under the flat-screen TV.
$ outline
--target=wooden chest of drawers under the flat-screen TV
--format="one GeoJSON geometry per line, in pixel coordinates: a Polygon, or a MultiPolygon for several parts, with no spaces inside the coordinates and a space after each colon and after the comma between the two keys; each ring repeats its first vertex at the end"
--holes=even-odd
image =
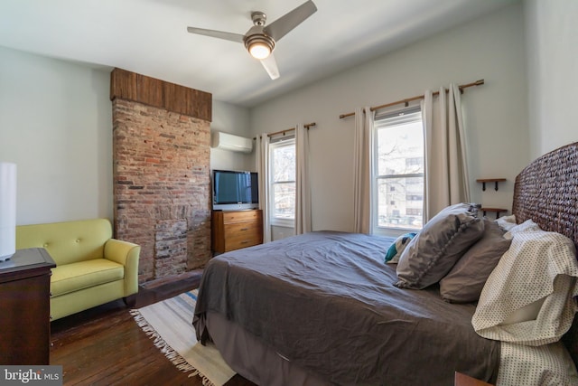
{"type": "Polygon", "coordinates": [[[214,252],[251,247],[263,243],[263,212],[213,211],[212,243],[214,252]]]}

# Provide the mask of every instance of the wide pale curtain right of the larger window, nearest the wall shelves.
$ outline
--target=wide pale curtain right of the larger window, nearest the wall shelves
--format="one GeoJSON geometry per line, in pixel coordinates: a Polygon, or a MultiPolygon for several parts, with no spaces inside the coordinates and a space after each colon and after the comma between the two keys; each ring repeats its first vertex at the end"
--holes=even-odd
{"type": "Polygon", "coordinates": [[[460,89],[453,83],[447,95],[443,87],[440,89],[437,100],[433,99],[431,90],[424,93],[424,221],[448,205],[470,202],[460,97],[460,89]]]}

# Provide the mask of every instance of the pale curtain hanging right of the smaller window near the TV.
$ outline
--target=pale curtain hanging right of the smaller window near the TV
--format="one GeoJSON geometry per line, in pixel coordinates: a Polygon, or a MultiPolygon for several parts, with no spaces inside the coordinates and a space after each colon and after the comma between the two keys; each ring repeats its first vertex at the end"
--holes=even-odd
{"type": "Polygon", "coordinates": [[[312,231],[311,184],[309,181],[309,130],[295,128],[295,234],[312,231]]]}

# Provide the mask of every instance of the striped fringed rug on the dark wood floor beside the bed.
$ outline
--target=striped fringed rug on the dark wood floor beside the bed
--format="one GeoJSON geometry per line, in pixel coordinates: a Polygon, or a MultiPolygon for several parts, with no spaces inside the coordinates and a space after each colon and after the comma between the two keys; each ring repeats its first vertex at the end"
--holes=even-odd
{"type": "Polygon", "coordinates": [[[189,376],[199,375],[203,385],[221,386],[235,372],[211,345],[197,342],[192,314],[197,301],[197,290],[177,297],[133,309],[131,315],[144,333],[154,339],[154,345],[183,372],[189,376]]]}

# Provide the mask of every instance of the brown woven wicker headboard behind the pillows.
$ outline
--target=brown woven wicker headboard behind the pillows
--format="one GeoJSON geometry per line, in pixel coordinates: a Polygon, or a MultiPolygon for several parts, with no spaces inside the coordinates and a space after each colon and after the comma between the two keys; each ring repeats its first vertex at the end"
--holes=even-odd
{"type": "MultiPolygon", "coordinates": [[[[578,142],[542,155],[516,177],[512,213],[573,240],[578,250],[578,142]]],[[[564,335],[578,367],[578,317],[564,335]]]]}

